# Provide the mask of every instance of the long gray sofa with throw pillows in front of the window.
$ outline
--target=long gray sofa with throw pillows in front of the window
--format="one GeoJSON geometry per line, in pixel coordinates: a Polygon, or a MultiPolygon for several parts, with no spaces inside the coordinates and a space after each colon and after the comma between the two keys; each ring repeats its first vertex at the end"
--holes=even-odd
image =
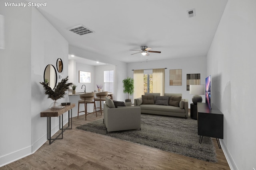
{"type": "Polygon", "coordinates": [[[134,99],[134,106],[140,106],[141,113],[178,116],[178,117],[185,117],[185,118],[188,117],[188,100],[182,99],[182,94],[165,93],[164,96],[165,97],[163,98],[169,99],[168,106],[161,105],[166,103],[158,102],[161,98],[160,93],[145,93],[145,95],[142,95],[144,99],[142,99],[142,97],[134,99]],[[151,98],[152,96],[153,96],[154,103],[151,98]],[[149,99],[149,97],[151,98],[151,100],[149,99]],[[157,98],[158,98],[158,101],[157,101],[157,98]],[[178,98],[180,98],[180,101],[178,101],[178,98]],[[174,99],[177,99],[177,101],[175,101],[174,99]],[[174,102],[173,105],[175,106],[170,105],[172,104],[172,102],[174,102]]]}

